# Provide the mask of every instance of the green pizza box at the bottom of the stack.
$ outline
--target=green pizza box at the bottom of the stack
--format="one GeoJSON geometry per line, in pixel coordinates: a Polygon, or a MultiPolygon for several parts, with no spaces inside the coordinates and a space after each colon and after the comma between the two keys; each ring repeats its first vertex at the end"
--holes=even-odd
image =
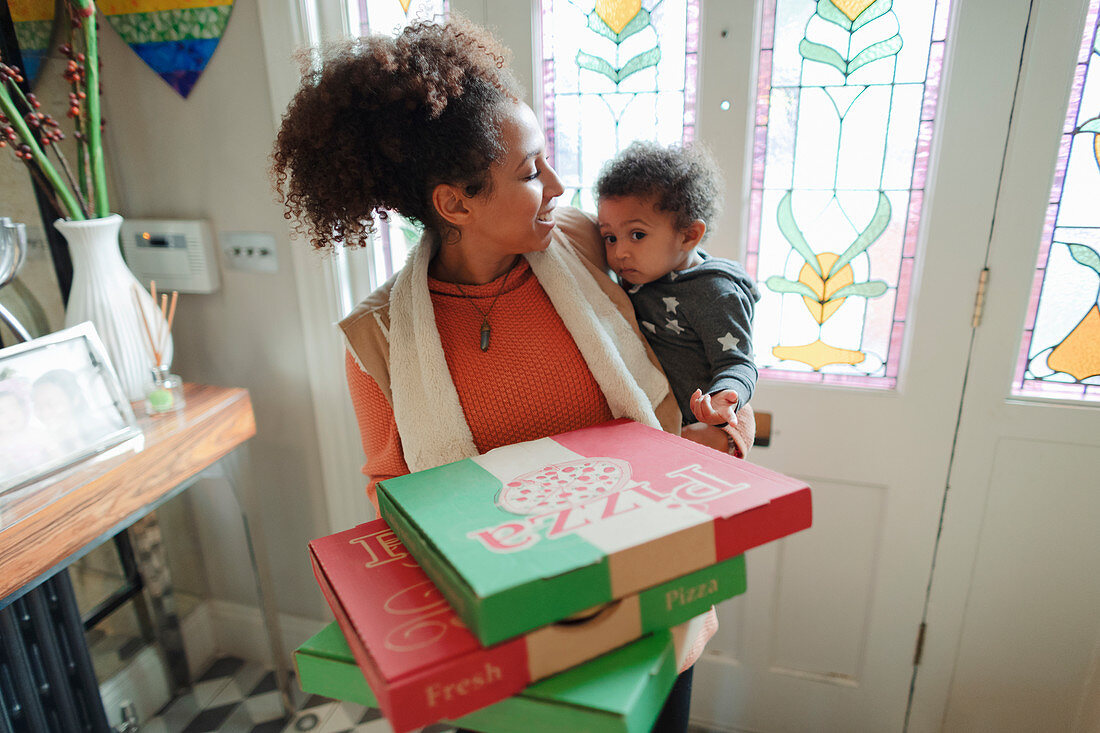
{"type": "MultiPolygon", "coordinates": [[[[675,681],[674,657],[672,635],[656,632],[451,722],[484,733],[648,733],[675,681]]],[[[377,707],[336,623],[299,646],[294,660],[304,691],[377,707]]]]}

